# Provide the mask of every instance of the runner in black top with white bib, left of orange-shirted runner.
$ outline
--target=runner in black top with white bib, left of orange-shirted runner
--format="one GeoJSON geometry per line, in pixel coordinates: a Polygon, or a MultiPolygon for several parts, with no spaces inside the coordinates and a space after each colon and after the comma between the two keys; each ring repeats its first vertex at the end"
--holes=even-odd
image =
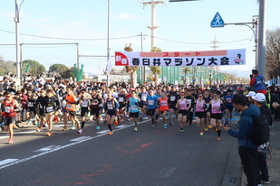
{"type": "Polygon", "coordinates": [[[46,96],[43,97],[41,103],[42,103],[42,107],[43,107],[44,115],[46,117],[47,124],[49,126],[47,135],[51,136],[52,129],[53,129],[53,116],[54,116],[55,111],[59,107],[59,100],[56,97],[53,97],[52,89],[47,89],[46,96]]]}

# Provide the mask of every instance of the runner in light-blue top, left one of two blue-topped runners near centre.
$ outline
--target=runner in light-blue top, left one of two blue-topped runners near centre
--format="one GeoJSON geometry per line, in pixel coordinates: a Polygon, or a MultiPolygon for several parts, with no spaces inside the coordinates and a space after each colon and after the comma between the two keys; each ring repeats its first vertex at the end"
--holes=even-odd
{"type": "Polygon", "coordinates": [[[133,121],[132,124],[134,126],[134,131],[136,132],[138,130],[137,128],[137,119],[139,117],[139,104],[140,104],[140,98],[136,98],[136,91],[131,90],[131,97],[129,98],[128,106],[130,107],[130,121],[133,121]]]}

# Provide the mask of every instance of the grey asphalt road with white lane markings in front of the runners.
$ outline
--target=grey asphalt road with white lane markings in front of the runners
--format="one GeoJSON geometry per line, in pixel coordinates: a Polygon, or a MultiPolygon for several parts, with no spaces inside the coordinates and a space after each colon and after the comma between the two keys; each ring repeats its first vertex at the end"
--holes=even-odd
{"type": "MultiPolygon", "coordinates": [[[[70,122],[69,122],[70,123],[70,122]]],[[[221,141],[209,130],[179,124],[154,128],[140,122],[138,132],[123,122],[95,130],[87,122],[82,135],[62,131],[55,124],[53,135],[35,126],[15,129],[14,144],[0,132],[0,185],[238,185],[241,165],[237,139],[222,129],[221,141]]],[[[70,126],[70,124],[68,125],[70,126]]],[[[236,128],[236,124],[231,125],[236,128]]]]}

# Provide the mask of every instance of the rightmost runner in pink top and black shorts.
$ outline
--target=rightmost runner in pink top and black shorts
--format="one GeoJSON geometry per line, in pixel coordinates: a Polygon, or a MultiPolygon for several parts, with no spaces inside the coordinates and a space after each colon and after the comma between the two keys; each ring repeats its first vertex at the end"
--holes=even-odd
{"type": "Polygon", "coordinates": [[[224,110],[223,101],[220,100],[220,91],[213,94],[213,99],[210,101],[211,110],[211,125],[213,130],[217,132],[217,141],[221,140],[221,119],[223,117],[222,110],[224,110]]]}

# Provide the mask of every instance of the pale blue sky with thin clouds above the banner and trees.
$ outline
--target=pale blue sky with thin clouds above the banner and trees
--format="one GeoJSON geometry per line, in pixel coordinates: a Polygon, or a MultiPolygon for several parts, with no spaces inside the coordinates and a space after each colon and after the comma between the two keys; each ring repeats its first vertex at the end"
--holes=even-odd
{"type": "MultiPolygon", "coordinates": [[[[155,0],[157,1],[157,0],[155,0]]],[[[18,0],[19,4],[23,0],[18,0]]],[[[24,0],[20,9],[19,33],[23,60],[37,60],[48,69],[54,63],[72,67],[77,62],[84,72],[101,73],[106,68],[108,0],[24,0]],[[35,45],[30,45],[35,43],[35,45]],[[38,44],[41,45],[38,45],[38,44]],[[53,44],[56,43],[56,44],[53,44]],[[76,44],[78,43],[78,44],[76,44]]],[[[110,1],[111,55],[131,43],[134,51],[150,51],[151,7],[141,0],[110,1]],[[143,41],[141,42],[141,33],[143,41]]],[[[246,26],[211,28],[218,12],[225,23],[252,22],[258,14],[257,0],[163,1],[156,5],[155,45],[162,51],[211,51],[246,49],[246,65],[221,70],[245,71],[255,67],[255,42],[246,26]]],[[[266,29],[280,27],[279,0],[266,0],[266,29]]],[[[15,61],[14,1],[0,2],[0,56],[15,61]]],[[[251,25],[250,25],[251,26],[251,25]]],[[[111,58],[114,60],[114,58],[111,58]]]]}

